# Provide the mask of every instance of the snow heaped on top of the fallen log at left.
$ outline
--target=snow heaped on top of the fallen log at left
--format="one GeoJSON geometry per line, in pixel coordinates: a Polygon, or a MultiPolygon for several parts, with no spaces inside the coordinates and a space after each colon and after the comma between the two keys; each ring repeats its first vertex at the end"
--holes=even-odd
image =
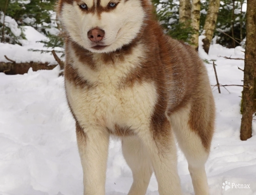
{"type": "MultiPolygon", "coordinates": [[[[34,61],[34,62],[42,62],[42,63],[48,62],[49,65],[58,64],[57,61],[54,59],[53,55],[51,55],[51,52],[41,53],[41,52],[29,51],[29,49],[51,51],[52,48],[46,48],[44,47],[43,43],[37,42],[41,40],[48,40],[48,38],[45,35],[36,31],[31,26],[24,26],[23,30],[27,40],[19,40],[22,46],[18,44],[12,45],[8,43],[0,43],[0,61],[1,62],[10,62],[5,59],[4,55],[6,55],[9,59],[16,61],[16,63],[34,61]]],[[[55,50],[61,51],[62,49],[59,47],[56,47],[55,50]]]]}

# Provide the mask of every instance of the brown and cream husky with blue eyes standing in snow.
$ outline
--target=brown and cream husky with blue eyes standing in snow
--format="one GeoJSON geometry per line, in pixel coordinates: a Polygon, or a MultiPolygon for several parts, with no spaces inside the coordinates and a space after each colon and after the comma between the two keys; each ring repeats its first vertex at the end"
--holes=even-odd
{"type": "Polygon", "coordinates": [[[122,140],[129,195],[180,195],[176,137],[196,195],[209,194],[205,162],[215,106],[203,61],[164,34],[150,0],[59,0],[68,104],[84,172],[84,195],[104,195],[109,137],[122,140]]]}

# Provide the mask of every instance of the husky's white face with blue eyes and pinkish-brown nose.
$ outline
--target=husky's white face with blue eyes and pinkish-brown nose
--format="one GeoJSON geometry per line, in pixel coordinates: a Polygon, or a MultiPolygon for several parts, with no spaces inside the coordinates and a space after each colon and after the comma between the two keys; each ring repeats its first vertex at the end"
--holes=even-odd
{"type": "Polygon", "coordinates": [[[60,0],[59,17],[79,45],[108,53],[136,37],[145,12],[140,0],[60,0]]]}

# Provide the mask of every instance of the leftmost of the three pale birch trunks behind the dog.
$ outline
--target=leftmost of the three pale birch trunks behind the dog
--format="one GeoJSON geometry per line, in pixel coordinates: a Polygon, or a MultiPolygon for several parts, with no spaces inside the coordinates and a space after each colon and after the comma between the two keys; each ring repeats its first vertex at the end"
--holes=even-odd
{"type": "Polygon", "coordinates": [[[191,2],[190,0],[180,0],[179,8],[179,22],[184,23],[185,27],[188,28],[191,19],[191,2]]]}

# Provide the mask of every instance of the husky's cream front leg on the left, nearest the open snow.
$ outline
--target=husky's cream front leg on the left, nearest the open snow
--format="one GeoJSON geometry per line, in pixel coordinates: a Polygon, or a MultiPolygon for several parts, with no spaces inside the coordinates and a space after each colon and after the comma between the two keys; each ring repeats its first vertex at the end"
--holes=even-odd
{"type": "Polygon", "coordinates": [[[76,138],[84,172],[84,195],[105,195],[109,134],[99,127],[82,128],[76,138]]]}

